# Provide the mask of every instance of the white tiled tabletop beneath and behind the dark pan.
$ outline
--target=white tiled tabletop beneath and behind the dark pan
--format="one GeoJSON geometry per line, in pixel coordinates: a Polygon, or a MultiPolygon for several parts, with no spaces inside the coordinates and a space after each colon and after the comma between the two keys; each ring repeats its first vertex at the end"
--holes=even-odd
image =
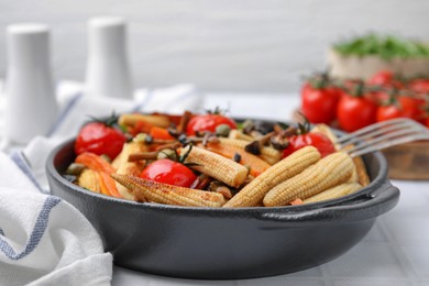
{"type": "MultiPolygon", "coordinates": [[[[234,117],[287,121],[299,106],[297,99],[285,95],[208,94],[206,107],[228,107],[234,117]]],[[[429,285],[429,182],[393,180],[393,184],[402,190],[399,204],[381,216],[358,245],[321,266],[242,280],[177,279],[114,266],[112,285],[429,285]]]]}

